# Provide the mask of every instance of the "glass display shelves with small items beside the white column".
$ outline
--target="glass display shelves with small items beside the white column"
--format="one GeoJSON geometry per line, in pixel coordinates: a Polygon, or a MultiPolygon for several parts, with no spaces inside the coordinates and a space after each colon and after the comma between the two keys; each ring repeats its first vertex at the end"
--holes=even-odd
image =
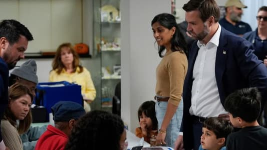
{"type": "Polygon", "coordinates": [[[121,80],[120,0],[94,1],[94,49],[101,57],[101,108],[111,111],[121,80]]]}

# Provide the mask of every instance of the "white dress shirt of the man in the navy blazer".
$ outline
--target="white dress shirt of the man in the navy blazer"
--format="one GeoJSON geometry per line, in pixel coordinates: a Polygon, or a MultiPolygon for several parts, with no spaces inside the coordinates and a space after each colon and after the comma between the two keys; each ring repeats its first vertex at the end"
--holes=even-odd
{"type": "Polygon", "coordinates": [[[221,26],[207,44],[197,41],[199,47],[193,69],[190,114],[202,117],[227,113],[221,104],[215,78],[215,60],[221,26]]]}

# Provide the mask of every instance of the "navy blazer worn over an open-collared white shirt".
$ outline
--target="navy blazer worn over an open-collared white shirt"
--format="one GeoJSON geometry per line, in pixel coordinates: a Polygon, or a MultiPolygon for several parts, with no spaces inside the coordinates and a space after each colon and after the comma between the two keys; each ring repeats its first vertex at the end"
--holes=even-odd
{"type": "MultiPolygon", "coordinates": [[[[189,50],[188,70],[183,86],[184,108],[181,131],[183,131],[185,149],[193,148],[192,117],[189,114],[189,108],[194,80],[193,67],[199,50],[196,43],[197,41],[189,50]]],[[[261,93],[267,89],[267,69],[253,53],[252,44],[223,27],[221,27],[216,53],[215,77],[222,105],[224,105],[225,97],[236,89],[257,87],[261,93]]],[[[264,94],[262,96],[265,97],[264,94]]]]}

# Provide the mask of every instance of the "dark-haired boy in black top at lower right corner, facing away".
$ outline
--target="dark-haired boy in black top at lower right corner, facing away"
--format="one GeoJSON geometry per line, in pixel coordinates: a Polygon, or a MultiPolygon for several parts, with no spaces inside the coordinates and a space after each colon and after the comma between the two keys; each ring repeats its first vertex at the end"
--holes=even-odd
{"type": "Polygon", "coordinates": [[[260,126],[260,92],[256,87],[234,91],[225,99],[225,109],[230,121],[240,130],[231,133],[226,141],[226,149],[267,149],[267,128],[260,126]]]}

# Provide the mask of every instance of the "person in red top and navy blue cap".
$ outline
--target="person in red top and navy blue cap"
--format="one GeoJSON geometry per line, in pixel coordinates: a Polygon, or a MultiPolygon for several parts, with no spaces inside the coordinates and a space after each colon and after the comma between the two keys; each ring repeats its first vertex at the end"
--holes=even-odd
{"type": "Polygon", "coordinates": [[[77,120],[85,114],[83,106],[73,101],[59,101],[51,109],[55,127],[48,125],[37,141],[36,150],[64,149],[77,120]]]}

